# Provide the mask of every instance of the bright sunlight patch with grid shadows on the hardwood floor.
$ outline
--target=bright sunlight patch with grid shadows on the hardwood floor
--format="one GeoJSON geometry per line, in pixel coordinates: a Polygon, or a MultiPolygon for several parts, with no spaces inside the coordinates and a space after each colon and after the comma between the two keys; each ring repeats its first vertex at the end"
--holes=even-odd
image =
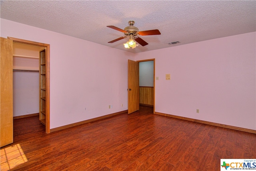
{"type": "Polygon", "coordinates": [[[8,171],[28,161],[20,144],[2,148],[0,154],[1,171],[8,171]]]}

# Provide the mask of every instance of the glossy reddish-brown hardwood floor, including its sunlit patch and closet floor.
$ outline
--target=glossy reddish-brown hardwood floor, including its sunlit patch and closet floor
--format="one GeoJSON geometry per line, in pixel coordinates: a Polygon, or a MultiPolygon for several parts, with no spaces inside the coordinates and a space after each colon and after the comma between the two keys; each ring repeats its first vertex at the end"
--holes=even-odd
{"type": "Polygon", "coordinates": [[[14,120],[1,171],[219,171],[220,159],[255,159],[256,135],[152,114],[140,106],[45,134],[37,116],[14,120]]]}

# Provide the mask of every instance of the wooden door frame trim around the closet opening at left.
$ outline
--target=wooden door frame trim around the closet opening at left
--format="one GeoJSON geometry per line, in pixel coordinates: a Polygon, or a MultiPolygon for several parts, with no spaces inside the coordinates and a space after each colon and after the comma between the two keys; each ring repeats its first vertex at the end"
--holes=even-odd
{"type": "Polygon", "coordinates": [[[16,43],[46,47],[46,133],[50,133],[50,45],[14,37],[7,37],[16,43]]]}

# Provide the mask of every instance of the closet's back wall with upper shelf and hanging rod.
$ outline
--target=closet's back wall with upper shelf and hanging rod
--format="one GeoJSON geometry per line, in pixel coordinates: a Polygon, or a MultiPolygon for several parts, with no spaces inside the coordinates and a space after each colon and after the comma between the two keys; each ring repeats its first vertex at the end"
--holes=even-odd
{"type": "Polygon", "coordinates": [[[43,49],[44,47],[13,43],[14,118],[39,115],[39,52],[43,49]]]}

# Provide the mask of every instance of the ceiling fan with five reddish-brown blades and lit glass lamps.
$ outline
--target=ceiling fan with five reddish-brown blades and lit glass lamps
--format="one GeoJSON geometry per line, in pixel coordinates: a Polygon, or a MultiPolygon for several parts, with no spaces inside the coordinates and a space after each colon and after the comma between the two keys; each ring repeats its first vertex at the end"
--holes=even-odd
{"type": "Polygon", "coordinates": [[[127,41],[126,43],[124,43],[124,47],[126,48],[130,48],[132,47],[135,48],[136,46],[138,46],[137,43],[139,43],[140,45],[142,46],[146,46],[148,45],[148,43],[146,41],[144,41],[142,38],[138,37],[138,35],[159,35],[161,34],[160,31],[158,29],[152,29],[152,30],[146,30],[146,31],[139,31],[138,28],[136,28],[134,25],[134,21],[129,21],[128,24],[130,26],[127,26],[126,28],[124,29],[120,29],[120,28],[117,28],[116,26],[107,26],[108,28],[112,28],[112,29],[115,29],[117,31],[121,31],[124,33],[125,36],[122,36],[122,37],[119,37],[117,39],[114,39],[112,41],[109,41],[108,43],[114,43],[118,40],[121,40],[121,39],[124,39],[126,37],[129,37],[129,41],[127,41]],[[136,42],[135,42],[135,41],[136,42]]]}

